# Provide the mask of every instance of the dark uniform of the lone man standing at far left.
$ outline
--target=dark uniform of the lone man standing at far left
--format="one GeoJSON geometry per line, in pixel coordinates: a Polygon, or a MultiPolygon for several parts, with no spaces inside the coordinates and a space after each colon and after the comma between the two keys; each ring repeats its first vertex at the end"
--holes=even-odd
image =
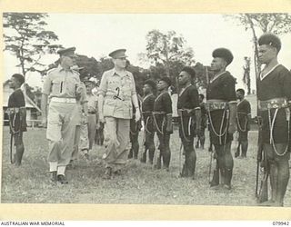
{"type": "Polygon", "coordinates": [[[11,126],[10,133],[26,132],[26,116],[21,116],[20,112],[17,111],[17,109],[20,107],[25,108],[25,95],[19,88],[16,89],[8,99],[8,108],[11,108],[12,110],[9,114],[11,126]]]}

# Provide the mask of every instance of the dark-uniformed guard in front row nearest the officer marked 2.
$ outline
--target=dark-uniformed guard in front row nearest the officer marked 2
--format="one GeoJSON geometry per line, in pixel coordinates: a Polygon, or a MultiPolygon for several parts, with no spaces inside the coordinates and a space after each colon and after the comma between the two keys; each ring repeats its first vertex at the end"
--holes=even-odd
{"type": "Polygon", "coordinates": [[[155,155],[155,128],[154,128],[154,103],[155,103],[155,93],[156,92],[156,83],[152,80],[146,80],[144,84],[144,98],[142,102],[142,113],[145,123],[145,135],[143,140],[145,143],[145,150],[142,153],[141,163],[146,163],[146,153],[148,151],[149,162],[153,164],[154,155],[155,155]]]}

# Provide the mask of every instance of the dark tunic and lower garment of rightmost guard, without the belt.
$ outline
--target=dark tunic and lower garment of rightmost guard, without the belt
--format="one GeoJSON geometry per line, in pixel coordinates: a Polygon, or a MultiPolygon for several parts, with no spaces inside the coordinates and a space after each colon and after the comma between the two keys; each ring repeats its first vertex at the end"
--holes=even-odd
{"type": "MultiPolygon", "coordinates": [[[[264,78],[257,80],[257,98],[259,101],[266,101],[274,98],[286,98],[291,100],[291,73],[285,66],[278,64],[273,71],[266,74],[264,78]]],[[[273,121],[276,109],[271,109],[271,121],[273,121]]],[[[260,112],[263,120],[263,142],[270,143],[270,124],[268,111],[260,112]]],[[[288,137],[286,108],[277,111],[273,129],[274,143],[286,143],[288,137]]]]}

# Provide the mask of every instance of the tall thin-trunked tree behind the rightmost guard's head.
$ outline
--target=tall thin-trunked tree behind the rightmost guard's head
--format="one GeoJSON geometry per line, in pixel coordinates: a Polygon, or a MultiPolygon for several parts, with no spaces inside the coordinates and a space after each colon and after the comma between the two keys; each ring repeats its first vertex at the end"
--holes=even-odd
{"type": "Polygon", "coordinates": [[[254,61],[256,78],[260,73],[261,65],[258,59],[258,33],[274,33],[283,35],[291,32],[291,15],[290,14],[239,14],[226,15],[232,19],[236,19],[239,25],[244,25],[246,30],[251,30],[253,35],[253,44],[255,49],[254,61]]]}

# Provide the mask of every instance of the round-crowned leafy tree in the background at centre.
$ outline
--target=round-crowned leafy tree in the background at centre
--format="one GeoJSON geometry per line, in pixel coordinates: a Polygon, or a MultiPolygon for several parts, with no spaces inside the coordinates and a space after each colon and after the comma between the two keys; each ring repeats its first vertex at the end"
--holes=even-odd
{"type": "Polygon", "coordinates": [[[186,46],[186,39],[175,31],[163,34],[159,30],[152,30],[147,33],[146,42],[146,57],[152,69],[156,67],[156,72],[163,73],[157,75],[159,77],[166,75],[175,82],[176,75],[185,65],[195,63],[193,49],[186,46]]]}

